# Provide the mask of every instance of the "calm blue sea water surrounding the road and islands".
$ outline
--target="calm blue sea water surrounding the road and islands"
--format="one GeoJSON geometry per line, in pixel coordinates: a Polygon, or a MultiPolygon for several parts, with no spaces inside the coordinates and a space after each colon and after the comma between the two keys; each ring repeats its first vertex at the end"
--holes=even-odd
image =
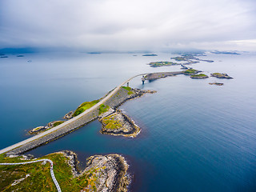
{"type": "MultiPolygon", "coordinates": [[[[25,54],[0,60],[0,147],[28,138],[26,130],[60,119],[81,102],[101,98],[134,74],[179,70],[150,68],[171,54],[25,54]],[[32,62],[26,62],[32,60],[32,62]]],[[[256,191],[256,54],[216,55],[193,65],[225,72],[225,79],[179,75],[130,86],[158,90],[120,107],[142,127],[137,138],[99,134],[94,121],[30,151],[73,150],[84,165],[93,154],[123,154],[132,191],[256,191]],[[224,82],[210,86],[208,82],[224,82]]]]}

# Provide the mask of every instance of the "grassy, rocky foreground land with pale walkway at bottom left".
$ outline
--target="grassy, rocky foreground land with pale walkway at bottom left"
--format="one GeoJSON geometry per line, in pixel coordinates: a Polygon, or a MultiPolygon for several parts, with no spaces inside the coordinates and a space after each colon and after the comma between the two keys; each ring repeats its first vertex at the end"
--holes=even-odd
{"type": "MultiPolygon", "coordinates": [[[[54,174],[62,191],[118,191],[126,192],[130,184],[128,165],[119,154],[94,155],[86,159],[85,170],[78,169],[77,155],[72,151],[47,154],[42,158],[32,155],[5,157],[1,162],[28,162],[50,159],[54,162],[54,174]]],[[[35,162],[18,166],[0,166],[1,191],[55,191],[50,176],[50,164],[35,162]]]]}

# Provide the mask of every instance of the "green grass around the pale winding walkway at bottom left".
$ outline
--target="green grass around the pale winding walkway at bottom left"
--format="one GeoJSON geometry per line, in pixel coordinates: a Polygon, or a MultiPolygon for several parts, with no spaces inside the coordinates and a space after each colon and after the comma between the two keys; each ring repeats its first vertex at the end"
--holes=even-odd
{"type": "MultiPolygon", "coordinates": [[[[63,192],[65,191],[95,191],[98,177],[96,174],[105,169],[104,166],[92,168],[78,178],[73,178],[71,167],[66,164],[67,158],[62,154],[49,154],[42,158],[49,158],[54,162],[54,174],[63,192]],[[91,190],[86,190],[89,187],[91,190]]],[[[40,158],[38,158],[40,159],[40,158]]],[[[0,162],[26,162],[20,158],[5,158],[1,154],[0,162]]],[[[0,191],[57,191],[50,177],[50,163],[42,165],[35,162],[18,166],[0,166],[0,191]],[[26,174],[30,174],[26,177],[26,174]],[[15,180],[25,178],[17,185],[11,186],[15,180]]]]}

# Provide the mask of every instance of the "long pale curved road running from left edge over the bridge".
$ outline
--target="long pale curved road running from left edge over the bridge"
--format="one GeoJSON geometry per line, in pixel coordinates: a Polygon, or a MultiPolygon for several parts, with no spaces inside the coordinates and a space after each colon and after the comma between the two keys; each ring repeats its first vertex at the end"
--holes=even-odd
{"type": "MultiPolygon", "coordinates": [[[[146,73],[148,74],[148,73],[146,73]]],[[[142,76],[142,75],[146,75],[146,74],[137,74],[135,75],[134,77],[132,78],[129,78],[128,80],[126,80],[125,82],[122,82],[122,84],[120,84],[119,86],[117,86],[116,88],[114,88],[114,90],[112,90],[110,92],[110,94],[108,94],[105,98],[103,98],[100,102],[98,102],[97,104],[95,104],[94,106],[90,107],[90,109],[88,110],[85,110],[82,114],[79,114],[78,116],[74,117],[74,118],[71,118],[70,120],[66,121],[66,122],[63,122],[61,125],[59,126],[55,126],[54,128],[51,128],[50,130],[46,130],[45,132],[41,133],[41,134],[37,134],[35,135],[34,137],[31,137],[31,138],[27,138],[26,140],[23,140],[22,142],[18,142],[12,146],[8,146],[2,150],[0,150],[0,154],[3,154],[3,153],[6,153],[10,150],[14,150],[15,148],[19,147],[19,146],[22,146],[28,142],[32,142],[38,138],[42,138],[43,136],[45,136],[46,134],[50,134],[52,132],[54,132],[55,130],[58,130],[58,129],[62,129],[63,126],[66,126],[68,125],[70,122],[74,122],[76,120],[78,120],[79,118],[81,118],[83,115],[89,113],[91,110],[95,110],[97,107],[99,107],[100,105],[102,105],[104,102],[106,102],[109,98],[111,98],[112,95],[114,95],[115,93],[118,92],[118,90],[120,89],[121,86],[123,86],[124,84],[126,84],[126,82],[130,82],[131,79],[133,78],[136,78],[138,76],[142,76]]]]}

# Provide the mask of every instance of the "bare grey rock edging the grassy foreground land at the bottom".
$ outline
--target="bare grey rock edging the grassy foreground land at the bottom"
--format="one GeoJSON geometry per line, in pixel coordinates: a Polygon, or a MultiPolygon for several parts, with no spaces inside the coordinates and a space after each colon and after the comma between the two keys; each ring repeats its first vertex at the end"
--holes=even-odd
{"type": "Polygon", "coordinates": [[[62,152],[67,158],[67,163],[71,166],[74,177],[88,175],[88,179],[94,182],[81,191],[116,191],[126,192],[130,184],[130,178],[127,174],[128,164],[125,158],[119,154],[94,155],[87,158],[86,169],[78,170],[78,160],[74,152],[65,150],[62,152]],[[95,189],[95,188],[94,188],[95,189]]]}

